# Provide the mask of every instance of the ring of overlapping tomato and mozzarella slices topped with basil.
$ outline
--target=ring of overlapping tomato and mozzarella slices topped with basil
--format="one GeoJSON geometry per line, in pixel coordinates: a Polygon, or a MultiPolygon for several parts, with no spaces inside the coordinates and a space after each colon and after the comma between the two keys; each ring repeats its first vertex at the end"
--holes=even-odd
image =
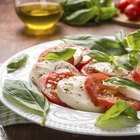
{"type": "Polygon", "coordinates": [[[105,112],[124,100],[139,111],[140,68],[130,71],[117,65],[128,54],[114,56],[113,62],[105,55],[73,43],[59,44],[40,54],[31,79],[50,102],[61,106],[105,112]]]}

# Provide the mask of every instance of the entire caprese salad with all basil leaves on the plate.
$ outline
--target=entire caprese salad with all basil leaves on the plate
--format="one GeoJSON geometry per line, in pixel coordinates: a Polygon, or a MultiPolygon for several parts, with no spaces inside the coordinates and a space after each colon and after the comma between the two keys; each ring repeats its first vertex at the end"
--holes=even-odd
{"type": "MultiPolygon", "coordinates": [[[[100,128],[135,126],[139,124],[136,111],[140,110],[139,38],[139,30],[128,36],[119,31],[115,40],[94,35],[63,37],[64,43],[42,52],[33,65],[30,77],[35,85],[6,79],[3,94],[43,116],[42,125],[52,102],[105,112],[95,123],[100,128]]],[[[12,60],[7,72],[15,72],[27,61],[27,55],[12,60]]]]}

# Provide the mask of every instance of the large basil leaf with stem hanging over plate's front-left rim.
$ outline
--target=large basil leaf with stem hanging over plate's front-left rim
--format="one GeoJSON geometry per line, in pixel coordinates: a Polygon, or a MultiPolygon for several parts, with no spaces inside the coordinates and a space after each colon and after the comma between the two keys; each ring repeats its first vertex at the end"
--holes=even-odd
{"type": "Polygon", "coordinates": [[[49,102],[33,86],[25,81],[6,79],[3,86],[4,96],[19,107],[41,115],[42,125],[45,124],[46,115],[49,110],[49,102]]]}

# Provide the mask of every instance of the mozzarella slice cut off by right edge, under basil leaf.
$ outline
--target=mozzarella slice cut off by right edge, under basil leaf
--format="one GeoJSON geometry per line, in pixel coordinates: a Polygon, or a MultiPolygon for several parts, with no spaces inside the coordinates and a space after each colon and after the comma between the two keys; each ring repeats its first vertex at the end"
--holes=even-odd
{"type": "Polygon", "coordinates": [[[140,101],[140,90],[132,87],[119,87],[118,90],[126,97],[140,101]]]}

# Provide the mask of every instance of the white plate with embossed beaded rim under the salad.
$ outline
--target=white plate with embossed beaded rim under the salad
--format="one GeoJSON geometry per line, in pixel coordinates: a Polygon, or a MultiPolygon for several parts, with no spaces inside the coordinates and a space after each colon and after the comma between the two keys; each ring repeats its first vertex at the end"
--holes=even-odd
{"type": "MultiPolygon", "coordinates": [[[[48,47],[53,47],[54,45],[62,43],[61,41],[52,41],[48,43],[43,43],[36,45],[29,49],[26,49],[10,59],[8,59],[0,69],[0,100],[12,111],[19,114],[20,116],[35,122],[37,124],[41,123],[42,118],[33,113],[27,112],[22,108],[12,104],[2,94],[2,85],[6,78],[10,79],[21,79],[29,81],[29,74],[33,64],[37,61],[39,54],[48,47]],[[29,60],[27,65],[12,73],[7,74],[6,66],[11,59],[20,56],[23,53],[29,55],[29,60]]],[[[136,127],[130,127],[125,129],[115,129],[115,130],[102,130],[94,126],[96,118],[100,116],[100,113],[91,113],[84,111],[77,111],[73,109],[64,108],[55,104],[51,104],[50,111],[47,116],[47,121],[45,123],[46,127],[53,128],[60,131],[71,132],[76,134],[86,134],[86,135],[98,135],[98,136],[128,136],[128,135],[140,135],[140,125],[136,127]]],[[[139,114],[140,116],[140,114],[139,114]]]]}

